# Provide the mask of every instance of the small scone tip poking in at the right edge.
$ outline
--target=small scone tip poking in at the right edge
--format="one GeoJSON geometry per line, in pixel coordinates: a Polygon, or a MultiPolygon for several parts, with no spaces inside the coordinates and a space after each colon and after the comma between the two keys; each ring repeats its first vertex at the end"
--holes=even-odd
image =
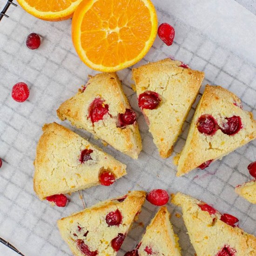
{"type": "Polygon", "coordinates": [[[235,191],[247,201],[256,204],[256,180],[245,182],[242,185],[237,186],[235,191]]]}

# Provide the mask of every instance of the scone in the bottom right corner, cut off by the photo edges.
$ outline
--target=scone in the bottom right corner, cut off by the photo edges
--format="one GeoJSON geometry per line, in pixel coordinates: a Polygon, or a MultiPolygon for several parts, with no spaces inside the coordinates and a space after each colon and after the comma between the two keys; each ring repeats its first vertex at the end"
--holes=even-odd
{"type": "Polygon", "coordinates": [[[256,237],[220,220],[221,214],[216,209],[182,193],[174,195],[172,202],[182,207],[197,256],[255,256],[256,237]]]}

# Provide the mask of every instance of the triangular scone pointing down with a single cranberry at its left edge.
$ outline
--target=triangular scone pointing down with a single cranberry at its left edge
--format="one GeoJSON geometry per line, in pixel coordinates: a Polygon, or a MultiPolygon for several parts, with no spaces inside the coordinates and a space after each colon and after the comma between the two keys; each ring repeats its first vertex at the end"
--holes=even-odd
{"type": "Polygon", "coordinates": [[[139,107],[162,157],[171,155],[204,78],[203,72],[183,67],[165,59],[133,68],[139,107]]]}

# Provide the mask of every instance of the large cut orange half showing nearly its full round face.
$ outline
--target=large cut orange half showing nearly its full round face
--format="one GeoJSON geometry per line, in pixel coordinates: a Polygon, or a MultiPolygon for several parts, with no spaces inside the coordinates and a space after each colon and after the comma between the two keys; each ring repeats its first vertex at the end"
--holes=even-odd
{"type": "Polygon", "coordinates": [[[72,20],[72,40],[81,60],[113,72],[140,61],[153,45],[157,16],[150,0],[83,0],[72,20]]]}

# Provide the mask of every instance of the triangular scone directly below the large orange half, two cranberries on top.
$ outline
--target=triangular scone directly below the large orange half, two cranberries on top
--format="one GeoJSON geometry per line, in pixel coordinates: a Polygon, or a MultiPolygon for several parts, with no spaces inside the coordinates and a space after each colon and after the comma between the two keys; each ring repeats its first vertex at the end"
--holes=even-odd
{"type": "Polygon", "coordinates": [[[57,115],[132,158],[137,159],[141,152],[136,114],[115,73],[91,77],[77,94],[61,104],[57,115]]]}

